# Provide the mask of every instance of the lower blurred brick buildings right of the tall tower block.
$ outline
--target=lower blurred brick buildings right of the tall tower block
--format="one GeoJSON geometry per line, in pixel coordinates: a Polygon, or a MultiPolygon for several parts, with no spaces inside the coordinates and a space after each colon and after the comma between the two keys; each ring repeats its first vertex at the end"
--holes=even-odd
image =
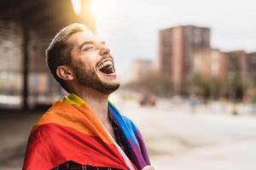
{"type": "Polygon", "coordinates": [[[243,50],[222,52],[216,49],[197,51],[193,54],[193,73],[207,81],[217,77],[227,81],[234,74],[241,77],[244,85],[256,82],[256,53],[243,50]]]}

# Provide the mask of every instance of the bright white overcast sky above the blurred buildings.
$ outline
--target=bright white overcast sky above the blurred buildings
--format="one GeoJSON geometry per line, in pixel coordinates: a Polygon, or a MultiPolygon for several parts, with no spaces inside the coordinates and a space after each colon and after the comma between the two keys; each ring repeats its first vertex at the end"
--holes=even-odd
{"type": "Polygon", "coordinates": [[[178,25],[210,27],[212,48],[256,51],[255,0],[93,0],[92,8],[120,73],[134,59],[156,62],[158,31],[178,25]]]}

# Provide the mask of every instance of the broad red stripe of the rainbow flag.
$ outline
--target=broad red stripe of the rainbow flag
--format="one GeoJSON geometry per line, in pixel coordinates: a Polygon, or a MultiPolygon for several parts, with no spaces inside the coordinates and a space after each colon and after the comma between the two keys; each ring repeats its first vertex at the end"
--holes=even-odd
{"type": "Polygon", "coordinates": [[[47,123],[31,134],[23,170],[49,170],[66,161],[94,167],[127,169],[114,144],[71,128],[47,123]]]}

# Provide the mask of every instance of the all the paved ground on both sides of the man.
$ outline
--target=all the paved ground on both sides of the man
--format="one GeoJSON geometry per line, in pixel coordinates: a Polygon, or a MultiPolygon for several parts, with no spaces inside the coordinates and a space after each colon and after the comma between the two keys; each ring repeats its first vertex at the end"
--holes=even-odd
{"type": "MultiPolygon", "coordinates": [[[[212,102],[193,112],[185,101],[159,99],[156,107],[117,102],[136,122],[158,170],[255,170],[256,116],[246,105],[212,102]]],[[[21,169],[30,130],[42,112],[0,114],[0,170],[21,169]]]]}

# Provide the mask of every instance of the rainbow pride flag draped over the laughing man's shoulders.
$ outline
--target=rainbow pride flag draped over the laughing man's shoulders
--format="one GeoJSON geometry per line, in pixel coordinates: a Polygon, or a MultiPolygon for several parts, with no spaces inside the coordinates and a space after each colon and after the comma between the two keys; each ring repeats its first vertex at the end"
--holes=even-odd
{"type": "Polygon", "coordinates": [[[66,161],[93,167],[142,169],[148,152],[137,127],[109,102],[109,114],[125,134],[137,162],[131,162],[83,99],[75,94],[57,101],[32,128],[23,170],[49,170],[66,161]]]}

